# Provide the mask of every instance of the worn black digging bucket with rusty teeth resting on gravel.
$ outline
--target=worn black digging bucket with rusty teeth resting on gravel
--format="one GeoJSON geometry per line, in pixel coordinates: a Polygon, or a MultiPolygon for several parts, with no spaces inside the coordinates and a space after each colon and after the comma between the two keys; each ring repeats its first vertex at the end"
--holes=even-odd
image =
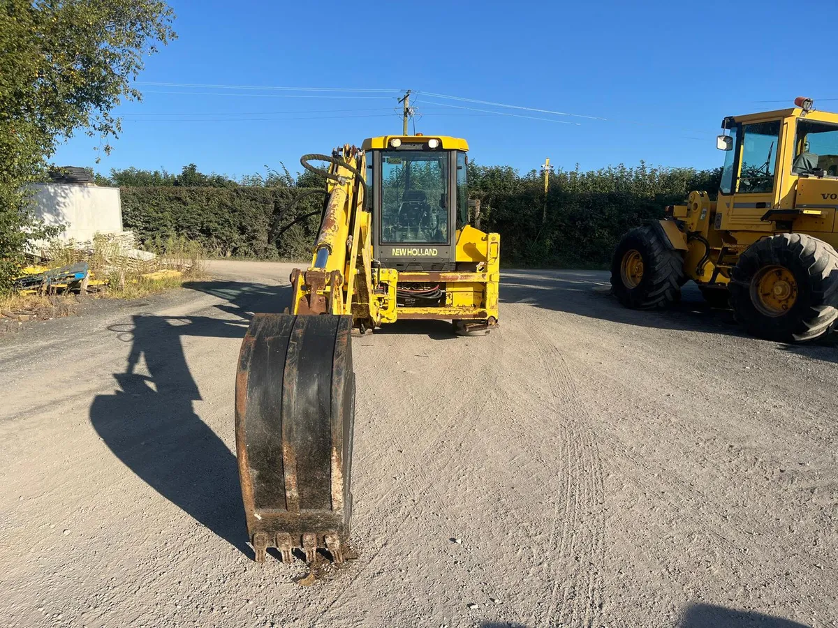
{"type": "Polygon", "coordinates": [[[343,562],[354,423],[350,316],[256,314],[235,380],[235,448],[256,561],[343,562]]]}

